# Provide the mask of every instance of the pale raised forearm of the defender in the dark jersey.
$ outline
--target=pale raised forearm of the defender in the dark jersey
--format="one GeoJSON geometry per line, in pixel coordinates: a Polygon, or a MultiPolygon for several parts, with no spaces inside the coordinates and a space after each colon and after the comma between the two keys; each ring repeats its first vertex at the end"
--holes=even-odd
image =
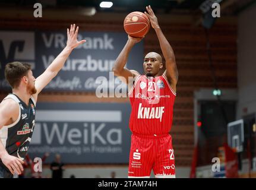
{"type": "Polygon", "coordinates": [[[68,56],[72,52],[71,47],[65,47],[61,53],[53,60],[52,64],[48,66],[46,71],[50,71],[56,74],[61,70],[61,68],[64,66],[65,62],[68,59],[68,56]]]}

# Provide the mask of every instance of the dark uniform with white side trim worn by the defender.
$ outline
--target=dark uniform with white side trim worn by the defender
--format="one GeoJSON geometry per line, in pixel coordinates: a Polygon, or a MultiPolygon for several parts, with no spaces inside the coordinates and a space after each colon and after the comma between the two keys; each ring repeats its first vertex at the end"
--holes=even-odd
{"type": "MultiPolygon", "coordinates": [[[[11,125],[0,129],[0,140],[8,154],[24,160],[34,131],[36,102],[31,96],[29,105],[26,105],[15,94],[9,94],[5,99],[12,99],[20,106],[18,119],[11,125]]],[[[4,99],[4,100],[5,100],[4,99]]],[[[12,178],[10,170],[0,160],[0,178],[12,178]]]]}

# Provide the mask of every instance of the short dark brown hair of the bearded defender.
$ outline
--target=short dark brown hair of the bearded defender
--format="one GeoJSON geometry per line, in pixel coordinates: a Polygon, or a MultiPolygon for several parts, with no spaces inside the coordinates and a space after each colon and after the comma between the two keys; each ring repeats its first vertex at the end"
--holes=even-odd
{"type": "Polygon", "coordinates": [[[5,65],[5,79],[11,85],[12,88],[20,85],[21,78],[26,76],[31,70],[31,65],[21,62],[10,62],[5,65]]]}

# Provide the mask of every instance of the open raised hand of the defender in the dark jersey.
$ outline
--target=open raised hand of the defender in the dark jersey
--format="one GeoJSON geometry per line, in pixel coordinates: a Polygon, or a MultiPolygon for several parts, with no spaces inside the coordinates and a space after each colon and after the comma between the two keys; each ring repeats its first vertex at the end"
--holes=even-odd
{"type": "Polygon", "coordinates": [[[74,49],[75,47],[81,45],[82,43],[85,43],[86,40],[77,40],[77,34],[78,34],[79,27],[75,28],[75,24],[71,24],[70,30],[67,29],[67,47],[74,49]]]}

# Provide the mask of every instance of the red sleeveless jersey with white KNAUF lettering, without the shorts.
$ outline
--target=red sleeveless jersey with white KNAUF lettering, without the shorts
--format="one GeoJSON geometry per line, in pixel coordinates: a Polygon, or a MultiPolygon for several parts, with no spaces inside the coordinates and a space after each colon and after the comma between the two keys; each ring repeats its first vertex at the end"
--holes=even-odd
{"type": "Polygon", "coordinates": [[[131,102],[129,128],[134,134],[167,134],[172,127],[176,93],[165,75],[140,75],[128,93],[131,102]]]}

